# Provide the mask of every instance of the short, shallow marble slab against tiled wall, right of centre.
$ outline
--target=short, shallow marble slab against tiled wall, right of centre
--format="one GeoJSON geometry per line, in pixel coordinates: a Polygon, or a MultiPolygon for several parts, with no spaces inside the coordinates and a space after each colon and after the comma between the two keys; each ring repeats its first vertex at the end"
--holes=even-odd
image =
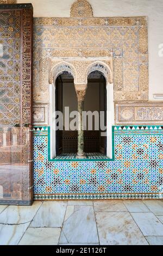
{"type": "Polygon", "coordinates": [[[95,212],[127,212],[123,200],[104,200],[93,202],[95,212]]]}

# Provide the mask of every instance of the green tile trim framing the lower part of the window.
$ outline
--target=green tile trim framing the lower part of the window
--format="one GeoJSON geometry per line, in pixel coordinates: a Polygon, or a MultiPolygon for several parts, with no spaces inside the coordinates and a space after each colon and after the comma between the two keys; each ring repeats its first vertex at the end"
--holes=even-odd
{"type": "Polygon", "coordinates": [[[51,129],[48,126],[48,161],[49,162],[111,162],[115,161],[115,137],[112,126],[112,159],[51,159],[51,129]]]}

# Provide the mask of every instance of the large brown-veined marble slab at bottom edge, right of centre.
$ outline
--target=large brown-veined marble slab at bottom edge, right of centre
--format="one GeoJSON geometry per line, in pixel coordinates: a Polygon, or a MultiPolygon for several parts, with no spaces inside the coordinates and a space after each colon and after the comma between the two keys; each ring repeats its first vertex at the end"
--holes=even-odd
{"type": "Polygon", "coordinates": [[[148,245],[128,212],[96,212],[96,220],[101,245],[148,245]]]}

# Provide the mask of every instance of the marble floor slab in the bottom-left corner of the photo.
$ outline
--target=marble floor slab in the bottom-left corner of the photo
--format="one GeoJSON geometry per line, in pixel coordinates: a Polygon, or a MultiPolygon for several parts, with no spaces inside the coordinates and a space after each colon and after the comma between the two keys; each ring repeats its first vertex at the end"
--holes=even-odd
{"type": "Polygon", "coordinates": [[[29,223],[20,225],[0,224],[0,245],[17,245],[29,223]]]}

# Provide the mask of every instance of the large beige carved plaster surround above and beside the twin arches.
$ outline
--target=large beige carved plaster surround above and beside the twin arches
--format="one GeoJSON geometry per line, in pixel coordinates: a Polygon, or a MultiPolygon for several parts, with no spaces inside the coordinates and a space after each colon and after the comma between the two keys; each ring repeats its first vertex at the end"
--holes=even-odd
{"type": "Polygon", "coordinates": [[[70,18],[34,19],[34,100],[49,101],[47,73],[40,60],[50,59],[54,62],[53,58],[57,57],[66,60],[77,70],[76,83],[82,84],[86,83],[83,75],[87,65],[85,59],[89,62],[90,57],[94,60],[112,57],[109,67],[113,66],[113,77],[109,79],[114,80],[115,101],[147,101],[147,18],[95,18],[92,14],[91,17],[82,17],[80,15],[85,14],[82,11],[78,13],[79,5],[85,8],[82,3],[89,5],[86,1],[74,3],[70,18]],[[74,57],[83,58],[83,63],[73,62],[74,57]]]}

